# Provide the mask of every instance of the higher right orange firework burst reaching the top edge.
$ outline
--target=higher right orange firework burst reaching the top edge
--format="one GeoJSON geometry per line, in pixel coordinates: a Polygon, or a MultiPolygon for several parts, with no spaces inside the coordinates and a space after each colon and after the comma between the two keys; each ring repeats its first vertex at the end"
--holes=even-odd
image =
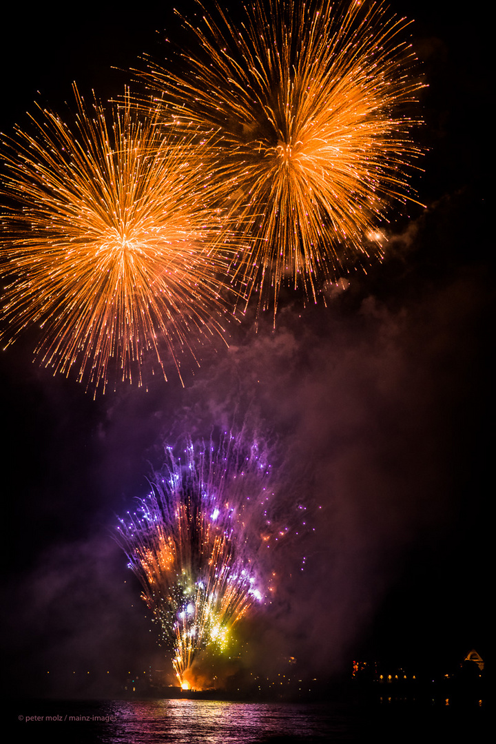
{"type": "Polygon", "coordinates": [[[255,0],[239,28],[219,7],[200,9],[197,26],[183,19],[199,51],[181,54],[182,71],[149,61],[141,75],[164,118],[179,110],[216,134],[216,177],[251,236],[231,272],[275,313],[281,283],[315,300],[380,257],[387,209],[411,199],[421,153],[407,112],[422,84],[402,40],[408,22],[381,0],[255,0]]]}

